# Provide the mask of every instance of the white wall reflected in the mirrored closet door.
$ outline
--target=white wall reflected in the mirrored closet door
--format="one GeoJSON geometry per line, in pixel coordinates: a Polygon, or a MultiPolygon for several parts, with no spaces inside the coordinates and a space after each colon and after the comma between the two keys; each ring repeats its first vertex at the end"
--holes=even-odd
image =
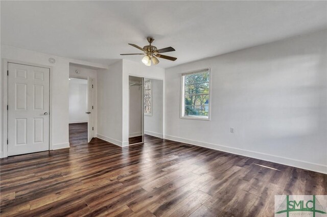
{"type": "Polygon", "coordinates": [[[150,80],[152,84],[152,114],[144,116],[144,133],[162,138],[164,87],[162,80],[150,80]]]}

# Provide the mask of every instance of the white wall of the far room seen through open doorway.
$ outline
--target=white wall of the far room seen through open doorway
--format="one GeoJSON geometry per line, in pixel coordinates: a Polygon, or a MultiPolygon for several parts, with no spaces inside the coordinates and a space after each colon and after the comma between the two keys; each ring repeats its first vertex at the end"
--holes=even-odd
{"type": "Polygon", "coordinates": [[[69,80],[69,123],[87,122],[87,80],[84,84],[69,80]]]}

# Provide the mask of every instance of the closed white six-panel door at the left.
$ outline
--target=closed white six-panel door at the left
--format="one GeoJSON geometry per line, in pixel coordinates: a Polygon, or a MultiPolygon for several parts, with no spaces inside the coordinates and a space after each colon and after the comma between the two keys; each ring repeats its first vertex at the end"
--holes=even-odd
{"type": "Polygon", "coordinates": [[[49,150],[50,69],[8,63],[8,156],[49,150]]]}

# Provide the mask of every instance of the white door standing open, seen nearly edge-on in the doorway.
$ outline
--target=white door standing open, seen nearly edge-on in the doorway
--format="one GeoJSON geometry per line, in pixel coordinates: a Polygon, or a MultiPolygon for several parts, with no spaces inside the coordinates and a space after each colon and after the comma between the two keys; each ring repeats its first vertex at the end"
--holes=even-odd
{"type": "Polygon", "coordinates": [[[87,78],[87,112],[88,121],[87,121],[87,142],[90,142],[93,138],[94,126],[93,126],[93,118],[94,118],[94,105],[93,105],[93,90],[94,90],[94,80],[91,77],[87,78]]]}

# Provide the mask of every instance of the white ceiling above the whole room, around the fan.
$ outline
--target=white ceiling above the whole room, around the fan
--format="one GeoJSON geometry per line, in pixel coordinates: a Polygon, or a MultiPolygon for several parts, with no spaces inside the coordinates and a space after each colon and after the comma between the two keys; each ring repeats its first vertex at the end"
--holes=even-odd
{"type": "Polygon", "coordinates": [[[172,46],[175,62],[327,28],[326,1],[1,1],[1,43],[91,62],[141,63],[127,43],[172,46]]]}

